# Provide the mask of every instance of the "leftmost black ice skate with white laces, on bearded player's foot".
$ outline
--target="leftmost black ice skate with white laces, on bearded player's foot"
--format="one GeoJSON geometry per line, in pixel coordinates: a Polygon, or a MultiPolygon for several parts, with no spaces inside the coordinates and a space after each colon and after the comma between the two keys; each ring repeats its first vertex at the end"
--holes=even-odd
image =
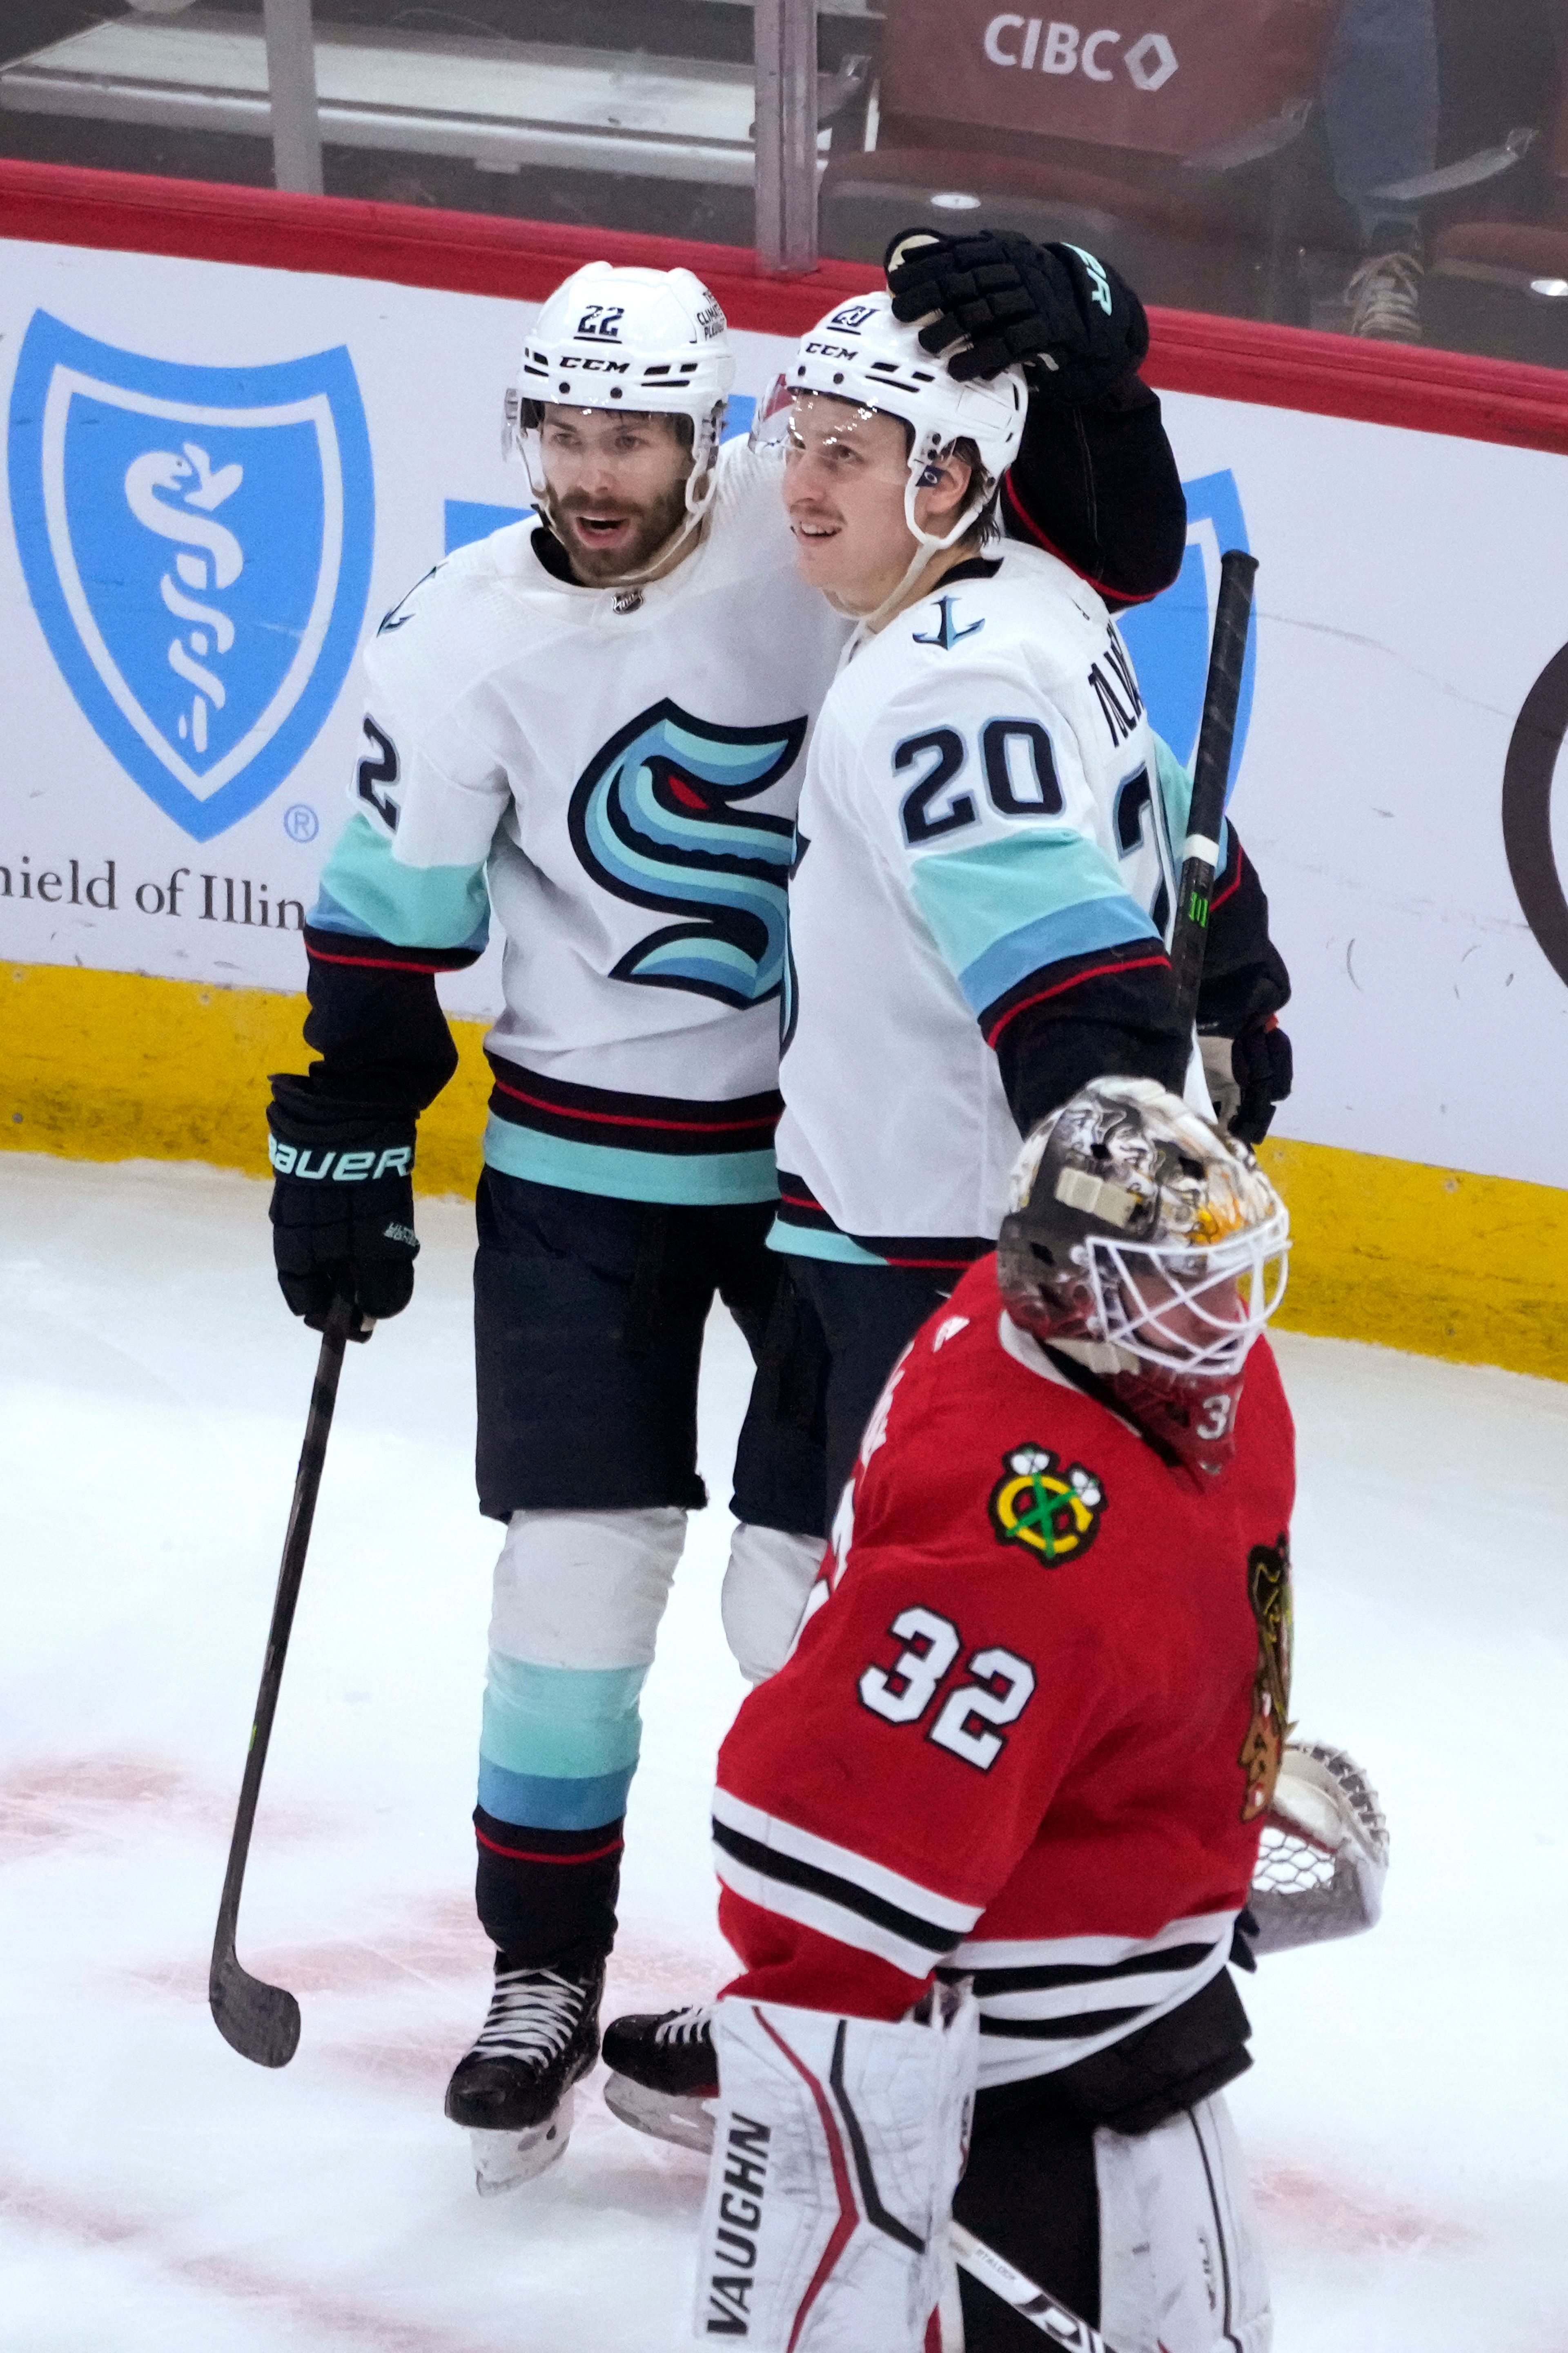
{"type": "Polygon", "coordinates": [[[447,2085],[447,2115],[465,2125],[480,2198],[534,2181],[571,2139],[571,2087],[599,2057],[604,1962],[588,1972],[517,1969],[496,1955],[496,1991],[480,2040],[447,2085]]]}

